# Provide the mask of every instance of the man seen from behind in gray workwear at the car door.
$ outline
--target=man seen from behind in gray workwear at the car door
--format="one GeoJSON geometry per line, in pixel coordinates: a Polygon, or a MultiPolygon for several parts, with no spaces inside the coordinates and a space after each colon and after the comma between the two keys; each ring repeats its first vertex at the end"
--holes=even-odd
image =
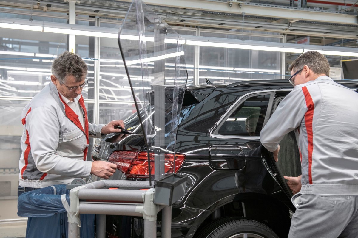
{"type": "Polygon", "coordinates": [[[317,51],[300,55],[290,70],[294,88],[260,134],[277,161],[279,142],[296,133],[302,187],[292,198],[289,238],[357,237],[358,93],[328,77],[328,60],[317,51]]]}

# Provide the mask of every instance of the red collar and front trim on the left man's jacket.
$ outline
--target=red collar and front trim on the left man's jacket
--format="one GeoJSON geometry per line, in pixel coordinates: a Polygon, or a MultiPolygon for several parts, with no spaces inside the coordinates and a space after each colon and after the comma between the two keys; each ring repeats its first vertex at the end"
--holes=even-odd
{"type": "MultiPolygon", "coordinates": [[[[81,98],[79,98],[79,105],[81,105],[83,113],[84,113],[84,129],[81,125],[81,122],[79,122],[79,118],[78,115],[71,109],[71,107],[69,107],[63,100],[60,94],[58,94],[61,102],[63,103],[63,105],[65,106],[65,113],[66,116],[68,117],[69,120],[71,120],[78,128],[81,129],[81,131],[84,132],[84,134],[86,135],[86,141],[87,141],[87,145],[89,144],[89,138],[88,138],[88,117],[87,117],[87,110],[86,107],[84,106],[84,100],[83,97],[81,95],[81,98]]],[[[83,150],[84,156],[83,156],[83,160],[86,160],[87,157],[87,151],[88,151],[88,147],[86,147],[83,150]]]]}

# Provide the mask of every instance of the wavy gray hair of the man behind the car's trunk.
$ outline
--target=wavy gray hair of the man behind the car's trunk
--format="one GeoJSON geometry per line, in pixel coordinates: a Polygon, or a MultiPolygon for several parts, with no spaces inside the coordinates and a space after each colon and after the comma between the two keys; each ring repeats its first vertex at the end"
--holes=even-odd
{"type": "Polygon", "coordinates": [[[76,82],[80,82],[83,75],[87,75],[88,67],[81,57],[65,51],[53,61],[51,70],[60,83],[64,82],[69,75],[75,77],[76,82]]]}

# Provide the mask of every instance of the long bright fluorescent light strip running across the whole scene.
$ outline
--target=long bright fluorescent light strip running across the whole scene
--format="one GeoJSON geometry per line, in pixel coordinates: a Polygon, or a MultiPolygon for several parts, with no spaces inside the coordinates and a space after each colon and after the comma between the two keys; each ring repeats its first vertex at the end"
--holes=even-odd
{"type": "MultiPolygon", "coordinates": [[[[84,36],[95,36],[105,38],[118,38],[118,29],[108,27],[97,27],[97,26],[83,26],[66,23],[55,23],[55,22],[43,22],[43,21],[26,21],[23,19],[13,19],[0,17],[0,27],[20,29],[20,30],[35,30],[44,32],[54,32],[59,34],[71,34],[71,35],[84,35],[84,36]]],[[[242,41],[235,39],[222,39],[216,37],[203,37],[203,36],[190,36],[182,35],[182,38],[176,39],[176,36],[167,35],[165,43],[182,43],[183,45],[194,45],[194,46],[210,46],[210,47],[224,47],[229,49],[247,49],[247,50],[263,50],[263,51],[274,51],[274,52],[291,52],[291,53],[302,53],[311,50],[317,50],[325,55],[339,55],[339,56],[350,56],[358,57],[357,48],[349,47],[336,47],[336,46],[314,46],[314,45],[298,45],[290,43],[278,43],[278,42],[261,42],[261,41],[242,41]]],[[[120,39],[123,40],[139,40],[136,31],[124,30],[120,35],[120,39]]],[[[147,34],[147,36],[141,37],[141,40],[154,42],[153,32],[147,34]],[[150,35],[151,34],[151,35],[150,35]]],[[[3,54],[14,54],[23,56],[34,56],[33,53],[25,52],[9,52],[0,51],[3,54]],[[5,53],[6,52],[6,53],[5,53]]],[[[40,54],[36,56],[40,57],[40,54]]],[[[111,60],[112,61],[112,60],[111,60]]],[[[110,62],[110,61],[108,61],[110,62]]],[[[112,62],[116,62],[113,60],[112,62]]],[[[117,61],[118,62],[118,61],[117,61]]],[[[263,71],[265,72],[265,71],[263,71]]]]}

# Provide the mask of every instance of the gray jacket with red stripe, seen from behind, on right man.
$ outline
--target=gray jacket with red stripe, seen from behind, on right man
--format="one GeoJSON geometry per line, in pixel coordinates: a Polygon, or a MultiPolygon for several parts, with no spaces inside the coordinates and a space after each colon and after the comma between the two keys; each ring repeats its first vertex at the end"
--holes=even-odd
{"type": "MultiPolygon", "coordinates": [[[[327,76],[297,85],[260,133],[275,151],[295,131],[304,194],[358,195],[358,93],[327,76]]],[[[279,158],[280,159],[280,158],[279,158]]]]}

